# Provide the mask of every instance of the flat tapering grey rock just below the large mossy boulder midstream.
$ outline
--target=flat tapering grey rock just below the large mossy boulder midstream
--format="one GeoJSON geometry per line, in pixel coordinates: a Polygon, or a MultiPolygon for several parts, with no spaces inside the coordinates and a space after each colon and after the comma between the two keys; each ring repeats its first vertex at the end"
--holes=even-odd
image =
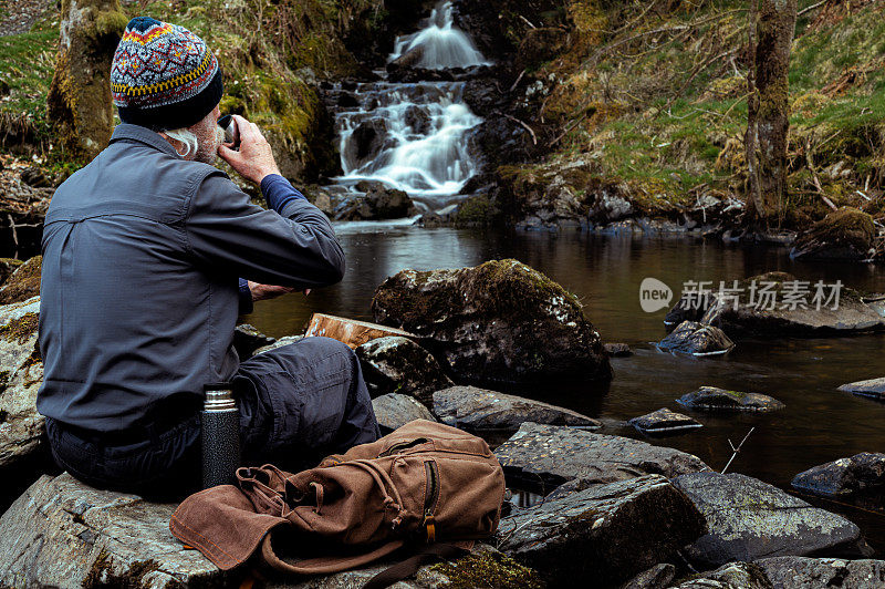
{"type": "Polygon", "coordinates": [[[445,424],[472,432],[516,432],[523,422],[602,427],[598,421],[569,409],[476,386],[451,386],[436,391],[434,413],[445,424]]]}

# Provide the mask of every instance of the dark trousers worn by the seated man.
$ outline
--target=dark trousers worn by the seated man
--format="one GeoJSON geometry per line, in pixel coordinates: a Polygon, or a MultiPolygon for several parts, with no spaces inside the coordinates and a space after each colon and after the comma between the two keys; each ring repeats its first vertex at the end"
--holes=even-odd
{"type": "MultiPolygon", "coordinates": [[[[360,361],[336,340],[304,338],[254,355],[240,364],[231,382],[246,466],[271,463],[296,472],[381,436],[360,361]]],[[[158,499],[199,489],[196,407],[171,426],[147,423],[122,437],[50,418],[46,433],[55,462],[88,485],[158,499]]]]}

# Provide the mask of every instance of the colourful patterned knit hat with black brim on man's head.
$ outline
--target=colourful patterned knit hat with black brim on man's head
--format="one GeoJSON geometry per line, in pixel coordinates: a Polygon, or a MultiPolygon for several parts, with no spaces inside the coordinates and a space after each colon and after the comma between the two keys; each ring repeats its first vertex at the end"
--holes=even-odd
{"type": "Polygon", "coordinates": [[[218,61],[184,27],[132,19],[111,64],[111,91],[124,123],[155,131],[188,127],[221,101],[218,61]]]}

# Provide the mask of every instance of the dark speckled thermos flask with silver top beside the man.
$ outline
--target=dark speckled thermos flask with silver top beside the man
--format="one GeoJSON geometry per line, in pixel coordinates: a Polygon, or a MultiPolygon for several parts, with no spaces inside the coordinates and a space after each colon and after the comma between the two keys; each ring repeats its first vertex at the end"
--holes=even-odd
{"type": "Polygon", "coordinates": [[[204,384],[202,488],[233,484],[240,466],[240,411],[229,382],[204,384]]]}

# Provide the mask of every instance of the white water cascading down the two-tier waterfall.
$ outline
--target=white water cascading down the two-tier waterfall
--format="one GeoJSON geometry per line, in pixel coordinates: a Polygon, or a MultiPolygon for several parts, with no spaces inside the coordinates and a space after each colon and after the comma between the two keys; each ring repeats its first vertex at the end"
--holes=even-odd
{"type": "MultiPolygon", "coordinates": [[[[397,38],[395,60],[410,51],[426,69],[486,64],[470,39],[452,24],[451,3],[438,6],[417,33],[397,38]]],[[[482,122],[461,101],[462,82],[360,84],[358,106],[336,114],[340,183],[378,180],[408,193],[429,209],[454,197],[477,164],[467,148],[467,131],[482,122]]]]}

